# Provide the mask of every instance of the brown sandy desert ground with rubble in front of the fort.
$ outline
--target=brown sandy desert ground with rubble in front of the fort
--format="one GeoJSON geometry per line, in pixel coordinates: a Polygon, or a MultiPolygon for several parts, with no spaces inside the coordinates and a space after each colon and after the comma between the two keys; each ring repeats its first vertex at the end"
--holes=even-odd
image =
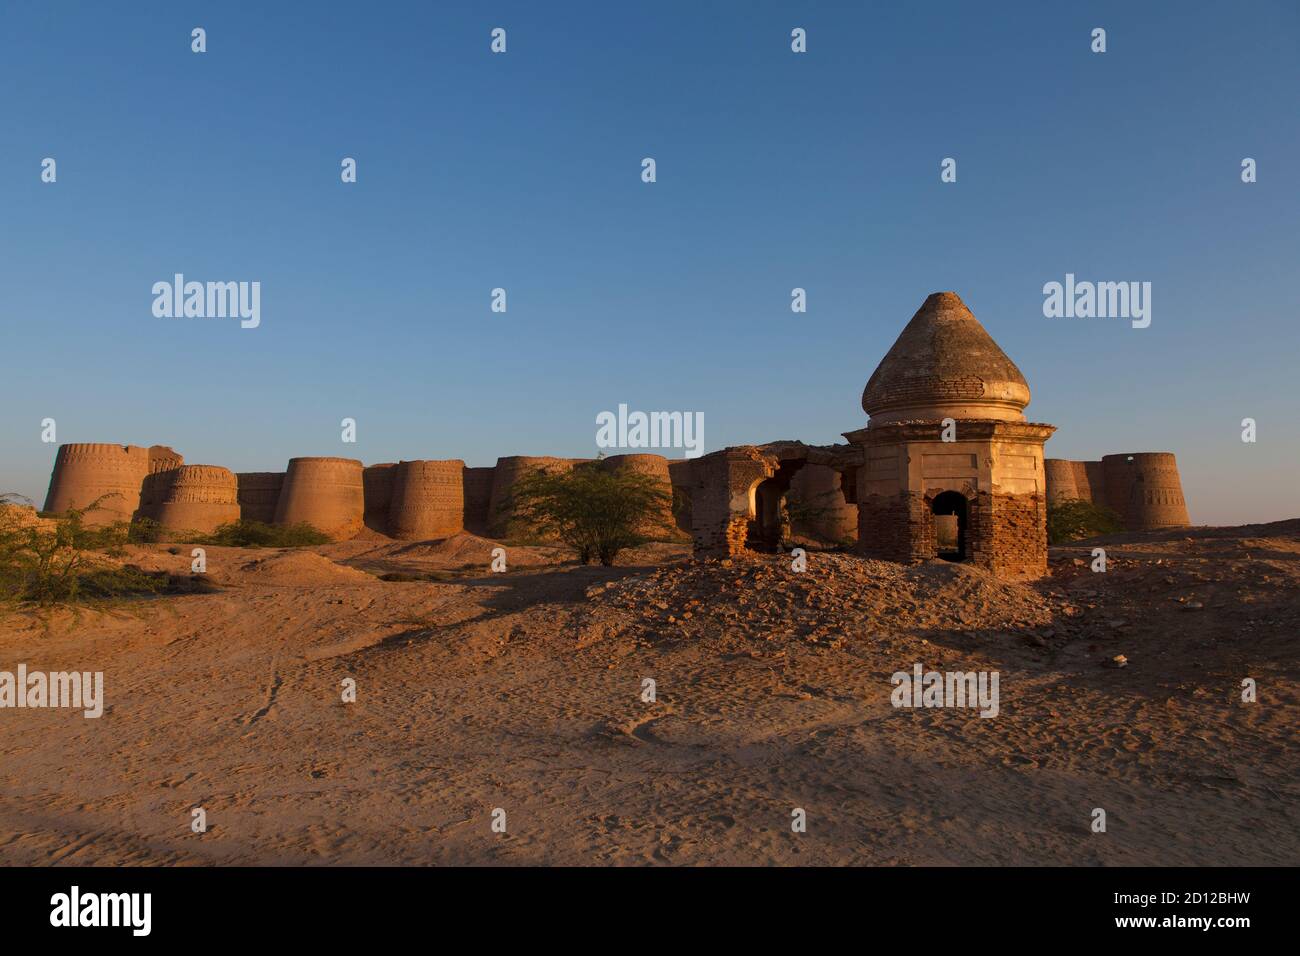
{"type": "Polygon", "coordinates": [[[0,619],[0,670],[107,696],[0,711],[0,862],[1296,864],[1300,520],[1104,544],[1106,574],[1089,542],[1032,585],[676,545],[491,574],[472,536],[209,549],[211,593],[0,619]],[[916,662],[997,670],[1000,715],[894,709],[916,662]]]}

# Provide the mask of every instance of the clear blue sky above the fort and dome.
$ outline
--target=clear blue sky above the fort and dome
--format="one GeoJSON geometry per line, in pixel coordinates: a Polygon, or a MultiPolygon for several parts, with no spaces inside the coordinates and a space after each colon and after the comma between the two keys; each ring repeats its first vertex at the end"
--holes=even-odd
{"type": "Polygon", "coordinates": [[[42,502],[46,418],[235,471],[593,455],[619,403],[841,441],[954,290],[1049,457],[1296,516],[1297,49],[1294,0],[5,4],[0,490],[42,502]],[[155,317],[177,272],[261,325],[155,317]],[[1150,326],[1044,317],[1066,273],[1149,281],[1150,326]]]}

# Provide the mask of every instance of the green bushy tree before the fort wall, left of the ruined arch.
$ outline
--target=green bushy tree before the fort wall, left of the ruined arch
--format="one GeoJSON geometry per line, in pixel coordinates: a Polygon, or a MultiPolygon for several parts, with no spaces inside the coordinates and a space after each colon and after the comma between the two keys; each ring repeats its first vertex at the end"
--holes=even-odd
{"type": "Polygon", "coordinates": [[[619,551],[647,541],[644,529],[672,502],[649,475],[590,464],[559,473],[530,472],[515,484],[511,497],[519,522],[575,548],[584,564],[594,558],[604,566],[619,551]]]}

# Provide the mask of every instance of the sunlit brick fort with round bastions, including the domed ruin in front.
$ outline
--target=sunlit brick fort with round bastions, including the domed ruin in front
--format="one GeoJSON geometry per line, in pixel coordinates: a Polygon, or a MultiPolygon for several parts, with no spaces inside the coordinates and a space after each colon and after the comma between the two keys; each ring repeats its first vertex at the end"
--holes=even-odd
{"type": "Polygon", "coordinates": [[[1105,505],[1131,531],[1190,523],[1171,453],[1045,459],[1056,429],[1028,421],[1028,403],[1020,369],[961,298],[935,293],[868,378],[870,420],[844,445],[774,441],[680,460],[516,455],[481,468],[292,458],[268,472],[186,464],[160,445],[64,445],[44,511],[103,498],[90,522],[147,518],[169,532],[251,519],[307,523],[335,541],[367,528],[402,541],[463,531],[504,537],[521,475],[595,466],[659,481],[673,509],[658,531],[689,536],[701,555],[772,551],[794,535],[885,561],[968,561],[1006,579],[1046,572],[1048,502],[1105,505]]]}

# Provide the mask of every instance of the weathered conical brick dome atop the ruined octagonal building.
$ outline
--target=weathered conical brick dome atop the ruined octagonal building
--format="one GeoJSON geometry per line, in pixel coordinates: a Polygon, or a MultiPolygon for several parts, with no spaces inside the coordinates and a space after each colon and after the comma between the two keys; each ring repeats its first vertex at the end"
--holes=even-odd
{"type": "Polygon", "coordinates": [[[872,424],[1023,421],[1030,386],[957,293],[926,299],[862,392],[872,424]]]}

